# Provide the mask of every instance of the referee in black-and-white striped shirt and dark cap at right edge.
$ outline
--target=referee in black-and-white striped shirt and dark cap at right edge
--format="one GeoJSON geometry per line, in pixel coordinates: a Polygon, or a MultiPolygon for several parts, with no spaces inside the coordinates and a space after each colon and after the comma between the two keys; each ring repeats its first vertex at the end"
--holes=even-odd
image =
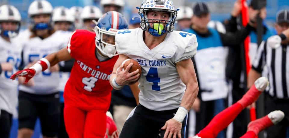
{"type": "Polygon", "coordinates": [[[277,13],[275,29],[278,35],[263,41],[258,48],[248,76],[248,86],[261,76],[269,78],[265,93],[265,114],[281,110],[285,118],[266,130],[267,138],[285,138],[289,127],[289,11],[277,13]]]}

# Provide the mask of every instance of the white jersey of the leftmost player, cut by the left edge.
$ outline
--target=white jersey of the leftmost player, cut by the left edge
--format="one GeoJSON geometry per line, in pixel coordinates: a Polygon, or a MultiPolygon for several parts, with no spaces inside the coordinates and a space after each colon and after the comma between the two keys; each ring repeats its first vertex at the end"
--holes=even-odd
{"type": "Polygon", "coordinates": [[[12,71],[4,71],[0,74],[0,109],[8,113],[16,113],[16,104],[18,101],[18,81],[10,79],[13,73],[16,73],[21,63],[22,47],[17,41],[11,39],[11,42],[4,40],[0,36],[0,64],[11,63],[12,71]]]}

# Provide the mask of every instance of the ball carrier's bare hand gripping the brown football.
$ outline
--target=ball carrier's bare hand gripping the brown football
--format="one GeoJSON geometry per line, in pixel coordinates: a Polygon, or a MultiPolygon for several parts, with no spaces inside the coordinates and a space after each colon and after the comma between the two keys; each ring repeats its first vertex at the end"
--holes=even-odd
{"type": "Polygon", "coordinates": [[[138,69],[129,73],[130,67],[132,67],[133,63],[130,63],[125,70],[123,70],[123,64],[120,65],[120,67],[117,69],[117,77],[115,81],[117,82],[118,85],[127,85],[129,82],[135,82],[138,80],[139,73],[138,69]]]}

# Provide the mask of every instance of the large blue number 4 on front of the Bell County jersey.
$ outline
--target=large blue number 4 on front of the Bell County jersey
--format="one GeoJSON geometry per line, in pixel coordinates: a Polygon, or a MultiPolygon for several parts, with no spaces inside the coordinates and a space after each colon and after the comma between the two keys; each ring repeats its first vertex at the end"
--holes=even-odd
{"type": "Polygon", "coordinates": [[[147,76],[145,76],[148,82],[153,82],[153,85],[151,85],[151,89],[155,91],[160,91],[160,86],[157,85],[158,82],[160,82],[160,77],[157,74],[157,68],[151,67],[150,70],[148,70],[147,76]]]}

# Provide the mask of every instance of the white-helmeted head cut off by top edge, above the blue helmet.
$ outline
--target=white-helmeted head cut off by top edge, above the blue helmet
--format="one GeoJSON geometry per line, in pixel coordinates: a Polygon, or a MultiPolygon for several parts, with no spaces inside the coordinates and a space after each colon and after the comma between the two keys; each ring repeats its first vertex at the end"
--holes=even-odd
{"type": "Polygon", "coordinates": [[[104,13],[109,11],[117,11],[120,12],[120,10],[124,6],[123,0],[101,0],[100,5],[103,8],[104,13]]]}

